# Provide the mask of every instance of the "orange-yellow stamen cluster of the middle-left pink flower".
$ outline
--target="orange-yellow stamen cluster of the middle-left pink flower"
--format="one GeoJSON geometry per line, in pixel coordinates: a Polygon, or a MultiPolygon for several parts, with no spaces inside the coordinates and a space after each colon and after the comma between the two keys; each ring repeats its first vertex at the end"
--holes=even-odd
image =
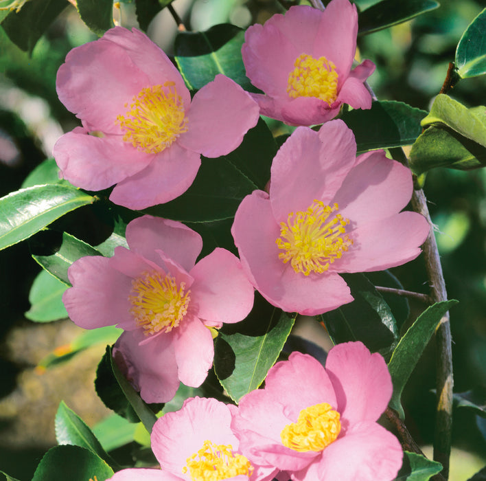
{"type": "Polygon", "coordinates": [[[132,291],[128,297],[132,304],[130,313],[137,325],[143,327],[145,335],[159,331],[168,333],[179,325],[191,300],[191,291],[184,290],[185,282],[177,286],[170,274],[162,276],[156,271],[132,280],[132,291]]]}

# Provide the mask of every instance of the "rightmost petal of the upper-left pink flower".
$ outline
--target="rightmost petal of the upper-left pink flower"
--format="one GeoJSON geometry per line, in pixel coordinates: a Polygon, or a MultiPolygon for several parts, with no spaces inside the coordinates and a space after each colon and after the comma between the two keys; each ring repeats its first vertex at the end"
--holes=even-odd
{"type": "Polygon", "coordinates": [[[187,111],[188,130],[178,144],[205,157],[220,157],[242,143],[258,118],[253,98],[233,80],[218,74],[194,96],[187,111]]]}

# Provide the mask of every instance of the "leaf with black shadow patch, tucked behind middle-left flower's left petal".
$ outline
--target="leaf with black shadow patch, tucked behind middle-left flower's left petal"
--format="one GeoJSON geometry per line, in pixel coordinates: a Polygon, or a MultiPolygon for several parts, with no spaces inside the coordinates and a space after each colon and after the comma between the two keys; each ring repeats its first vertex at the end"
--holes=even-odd
{"type": "Polygon", "coordinates": [[[82,240],[67,234],[67,232],[45,231],[39,232],[37,236],[30,240],[30,249],[32,257],[52,276],[58,278],[68,286],[71,285],[67,277],[67,269],[71,264],[84,256],[100,256],[91,245],[86,244],[82,240]],[[47,255],[40,255],[38,252],[46,253],[47,255]],[[52,254],[50,254],[52,252],[52,254]]]}

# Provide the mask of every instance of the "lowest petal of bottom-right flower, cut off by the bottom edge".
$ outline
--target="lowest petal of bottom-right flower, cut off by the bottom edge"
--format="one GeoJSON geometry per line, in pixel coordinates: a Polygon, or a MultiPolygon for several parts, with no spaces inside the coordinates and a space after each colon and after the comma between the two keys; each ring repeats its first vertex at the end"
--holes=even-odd
{"type": "Polygon", "coordinates": [[[360,423],[338,438],[320,462],[294,473],[295,481],[392,481],[402,467],[403,451],[397,438],[384,427],[360,423]]]}

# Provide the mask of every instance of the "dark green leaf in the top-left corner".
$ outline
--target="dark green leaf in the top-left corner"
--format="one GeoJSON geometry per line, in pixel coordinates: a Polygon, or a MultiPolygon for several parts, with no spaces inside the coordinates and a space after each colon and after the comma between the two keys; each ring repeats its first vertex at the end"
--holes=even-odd
{"type": "Polygon", "coordinates": [[[20,12],[10,12],[1,26],[17,47],[32,53],[40,36],[67,5],[66,0],[29,1],[20,12]]]}

